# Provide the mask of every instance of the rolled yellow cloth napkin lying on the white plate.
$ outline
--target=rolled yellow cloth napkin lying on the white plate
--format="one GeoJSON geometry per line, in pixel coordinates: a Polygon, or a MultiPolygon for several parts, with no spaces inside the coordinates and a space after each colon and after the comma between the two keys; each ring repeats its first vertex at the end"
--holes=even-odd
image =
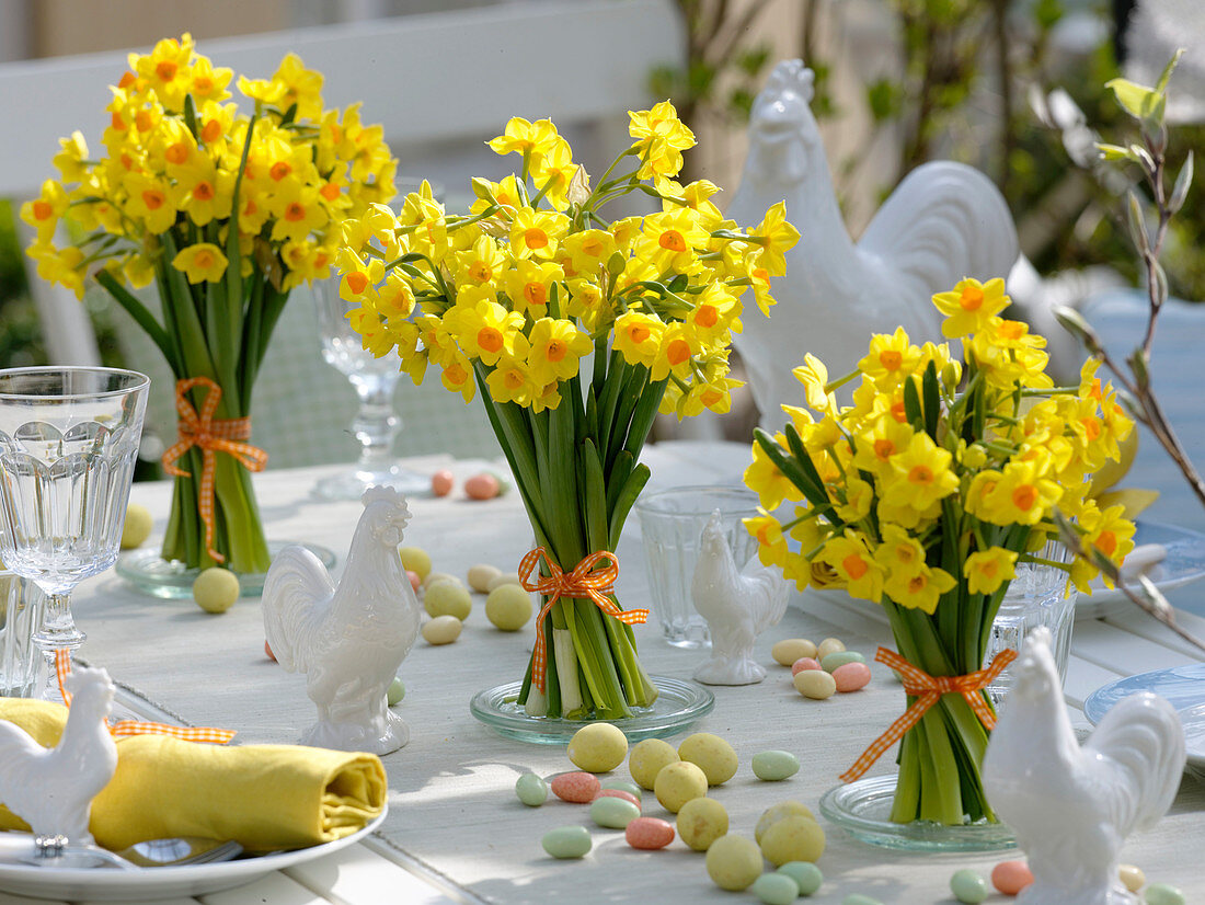
{"type": "MultiPolygon", "coordinates": [[[[0,719],[52,747],[66,709],[5,698],[0,719]]],[[[117,742],[117,772],[93,800],[89,829],[111,850],[167,836],[234,839],[248,851],[300,848],[363,828],[381,813],[386,793],[376,754],[135,735],[117,742]]],[[[29,825],[0,806],[0,829],[29,825]]]]}

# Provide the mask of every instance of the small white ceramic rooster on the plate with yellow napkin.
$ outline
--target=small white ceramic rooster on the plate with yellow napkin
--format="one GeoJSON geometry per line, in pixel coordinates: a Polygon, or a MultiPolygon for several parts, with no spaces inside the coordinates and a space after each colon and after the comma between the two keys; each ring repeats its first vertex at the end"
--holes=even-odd
{"type": "Polygon", "coordinates": [[[92,799],[113,778],[117,745],[108,731],[113,682],[102,669],[78,669],[64,688],[72,695],[63,737],[43,748],[13,723],[0,721],[0,801],[35,835],[63,835],[92,845],[92,799]]]}

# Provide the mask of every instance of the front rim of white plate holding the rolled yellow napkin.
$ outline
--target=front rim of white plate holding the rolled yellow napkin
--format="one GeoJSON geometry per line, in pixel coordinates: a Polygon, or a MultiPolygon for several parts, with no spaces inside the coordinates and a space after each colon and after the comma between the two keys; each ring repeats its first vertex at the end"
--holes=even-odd
{"type": "Polygon", "coordinates": [[[204,895],[231,889],[259,880],[275,870],[322,858],[360,841],[384,821],[388,809],[364,829],[334,842],[295,848],[289,852],[181,868],[37,868],[31,864],[0,863],[0,889],[35,899],[75,901],[151,901],[189,895],[204,895]]]}

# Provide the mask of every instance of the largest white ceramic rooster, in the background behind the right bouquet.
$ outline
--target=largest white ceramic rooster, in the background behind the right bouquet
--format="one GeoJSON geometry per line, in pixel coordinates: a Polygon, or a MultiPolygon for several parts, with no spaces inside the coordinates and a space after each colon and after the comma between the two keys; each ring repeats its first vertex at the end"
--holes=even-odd
{"type": "Polygon", "coordinates": [[[963,277],[1006,277],[1017,230],[1004,198],[977,170],[952,161],[913,170],[854,243],[829,177],[812,117],[812,71],[780,63],[758,95],[750,151],[727,216],[757,223],[786,199],[799,243],[775,278],[772,316],[745,318],[734,337],[766,430],[782,427],[783,402],[798,405],[792,368],[812,352],[834,377],[866,354],[871,334],[904,327],[913,342],[941,340],[930,299],[963,277]]]}

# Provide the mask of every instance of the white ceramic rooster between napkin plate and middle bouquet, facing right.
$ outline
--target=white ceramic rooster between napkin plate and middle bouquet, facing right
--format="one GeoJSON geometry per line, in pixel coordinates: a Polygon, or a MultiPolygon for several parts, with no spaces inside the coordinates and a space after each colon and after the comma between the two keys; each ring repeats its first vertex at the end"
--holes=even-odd
{"type": "Polygon", "coordinates": [[[372,487],[363,501],[337,588],[305,547],[288,547],[272,560],[264,631],[277,662],[306,674],[318,707],[302,745],[388,754],[410,740],[386,694],[418,635],[421,611],[398,556],[410,521],[405,498],[372,487]]]}

